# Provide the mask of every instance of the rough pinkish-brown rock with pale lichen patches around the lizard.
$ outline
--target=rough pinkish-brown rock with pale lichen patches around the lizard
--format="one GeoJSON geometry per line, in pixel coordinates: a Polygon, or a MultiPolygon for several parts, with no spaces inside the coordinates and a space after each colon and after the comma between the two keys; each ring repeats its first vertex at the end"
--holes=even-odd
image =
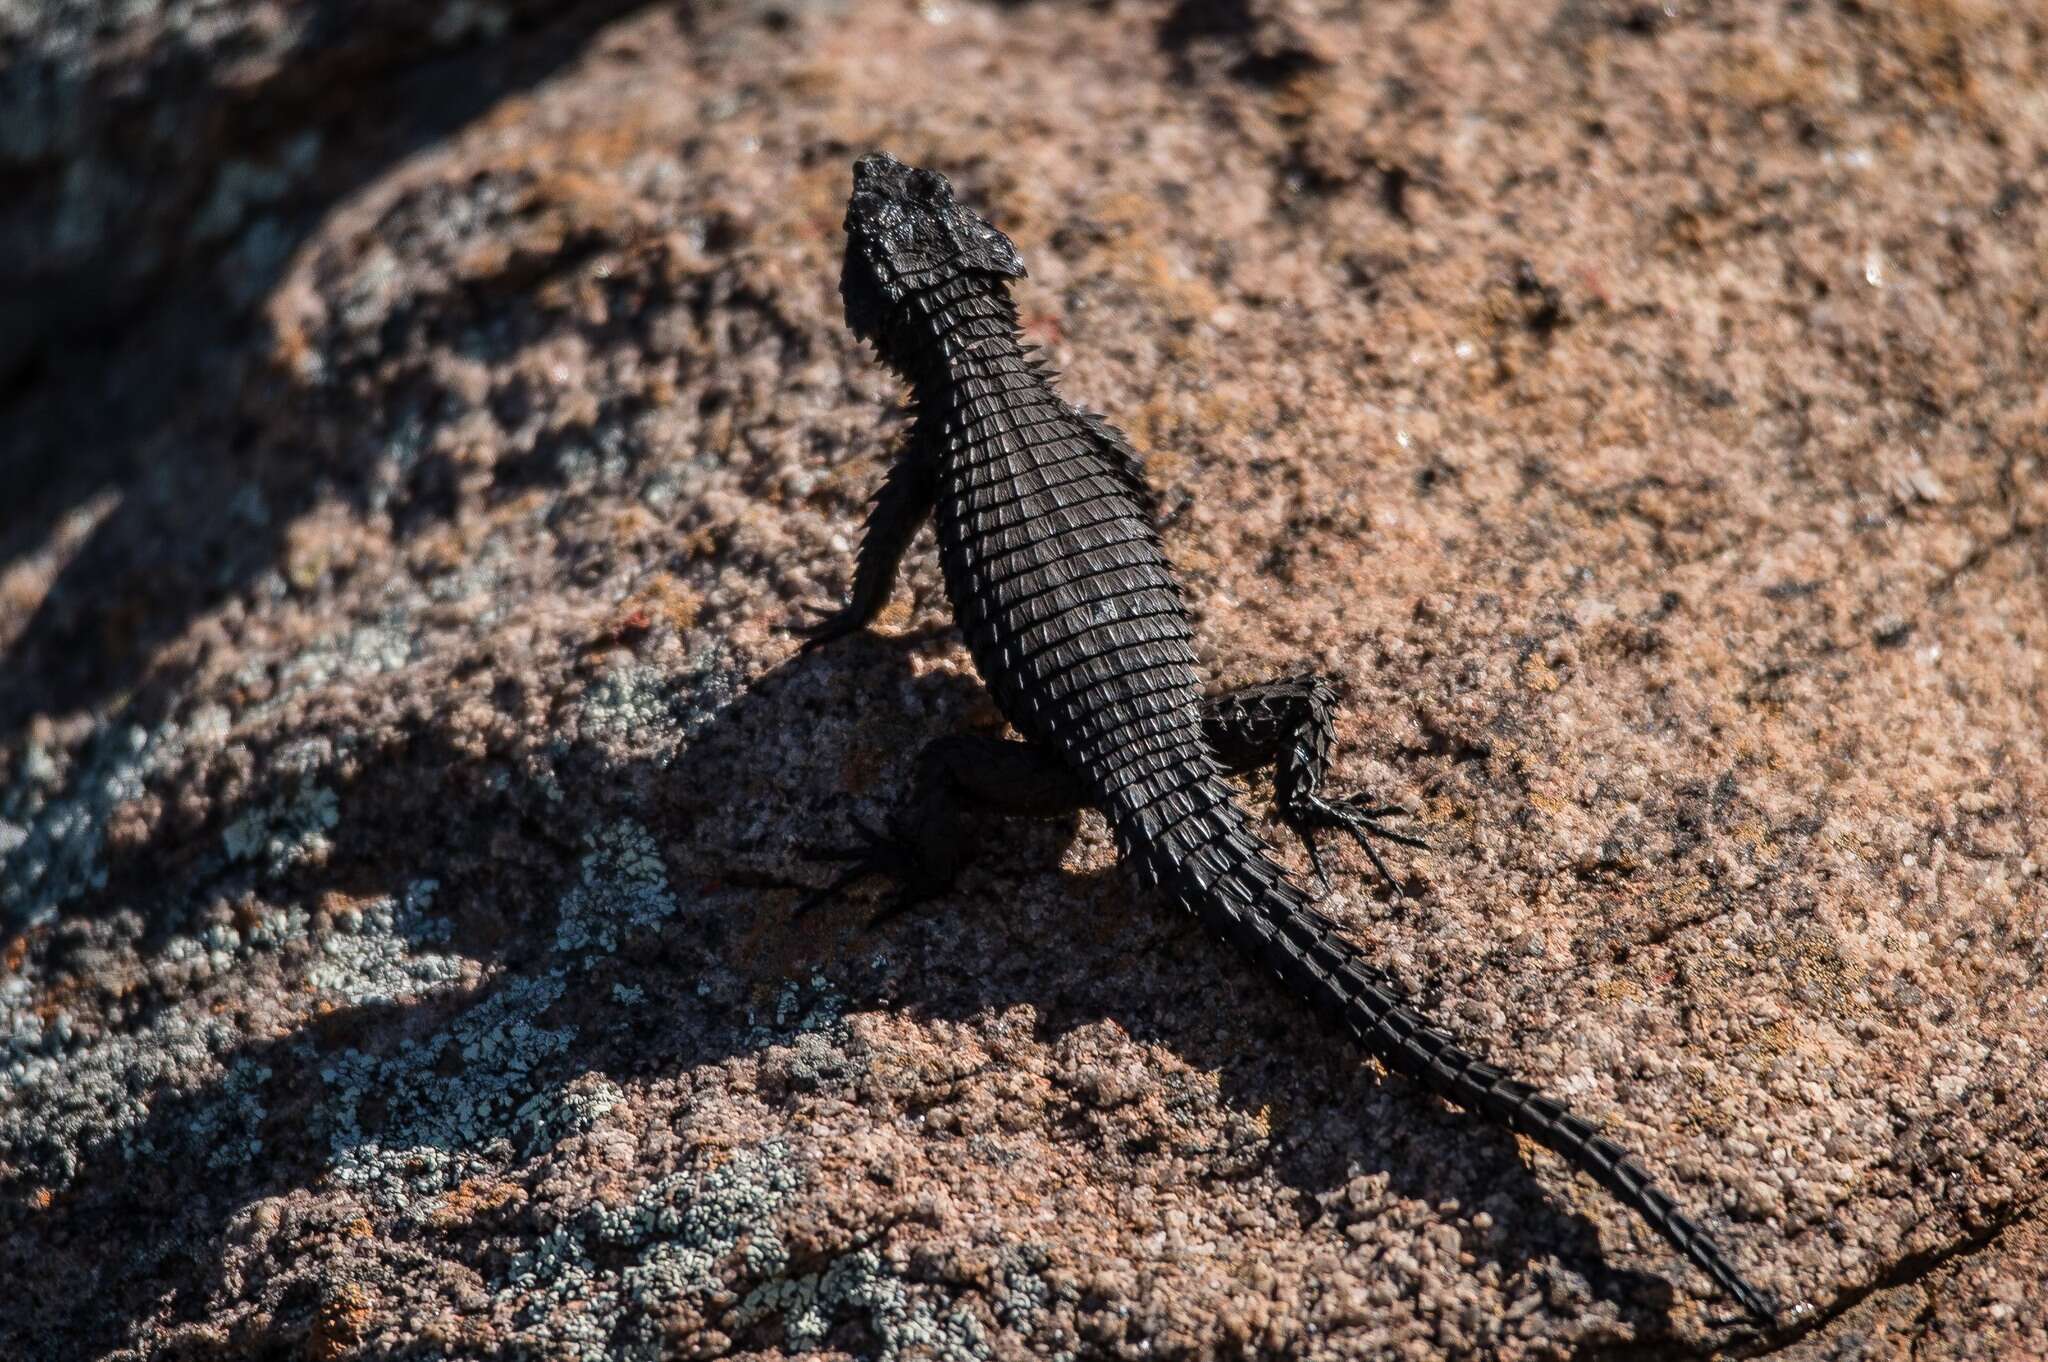
{"type": "Polygon", "coordinates": [[[2048,1354],[2032,6],[438,10],[0,4],[0,1356],[2048,1354]],[[788,633],[870,147],[1778,1333],[1094,815],[793,920],[997,723],[928,553],[788,633]]]}

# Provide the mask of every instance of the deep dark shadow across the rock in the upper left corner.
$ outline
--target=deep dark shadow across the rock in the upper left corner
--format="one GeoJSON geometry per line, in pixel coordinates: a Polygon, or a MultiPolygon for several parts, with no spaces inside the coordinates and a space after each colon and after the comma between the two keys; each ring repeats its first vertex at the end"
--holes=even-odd
{"type": "MultiPolygon", "coordinates": [[[[643,2],[520,6],[516,18],[535,20],[532,29],[385,66],[365,55],[369,16],[328,14],[322,23],[338,35],[315,43],[324,55],[313,70],[281,70],[233,92],[219,86],[201,107],[180,109],[211,133],[190,154],[221,166],[319,135],[317,164],[262,207],[260,250],[246,248],[248,240],[199,242],[131,270],[139,244],[115,233],[100,258],[12,291],[4,311],[10,324],[33,324],[33,334],[0,346],[10,371],[0,387],[0,567],[72,516],[98,520],[0,659],[10,678],[0,686],[0,741],[39,711],[129,694],[158,645],[279,565],[285,533],[317,498],[365,496],[362,469],[262,449],[238,410],[262,363],[254,336],[262,299],[334,205],[545,80],[643,2]]],[[[410,31],[430,8],[393,6],[381,18],[410,31]]],[[[188,201],[203,197],[221,166],[166,170],[172,188],[164,193],[197,219],[203,205],[188,201]]],[[[61,176],[63,168],[37,174],[61,176]]],[[[137,195],[135,211],[154,221],[160,207],[137,195]]],[[[188,227],[176,217],[156,223],[178,242],[188,227]]]]}

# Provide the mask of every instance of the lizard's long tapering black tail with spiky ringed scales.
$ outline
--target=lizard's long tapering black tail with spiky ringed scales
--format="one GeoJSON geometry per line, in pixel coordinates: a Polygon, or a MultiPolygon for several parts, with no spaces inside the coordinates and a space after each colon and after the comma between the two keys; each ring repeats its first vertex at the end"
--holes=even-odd
{"type": "Polygon", "coordinates": [[[1565,1110],[1556,1098],[1462,1051],[1413,1012],[1401,999],[1393,975],[1368,963],[1358,946],[1337,934],[1329,918],[1309,905],[1255,834],[1241,823],[1229,827],[1237,819],[1217,805],[1210,807],[1210,819],[1190,821],[1196,827],[1182,823],[1167,832],[1165,840],[1180,844],[1176,850],[1155,846],[1145,858],[1149,879],[1157,879],[1182,905],[1343,1022],[1389,1069],[1554,1149],[1640,1215],[1751,1317],[1761,1323],[1776,1317],[1769,1299],[1743,1280],[1706,1231],[1679,1215],[1677,1202],[1651,1182],[1626,1149],[1565,1110]],[[1202,829],[1198,823],[1210,827],[1202,829]]]}

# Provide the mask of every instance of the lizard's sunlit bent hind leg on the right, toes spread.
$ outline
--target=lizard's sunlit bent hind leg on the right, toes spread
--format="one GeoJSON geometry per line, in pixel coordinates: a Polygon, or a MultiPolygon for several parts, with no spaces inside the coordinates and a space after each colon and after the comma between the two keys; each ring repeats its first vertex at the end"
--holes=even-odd
{"type": "Polygon", "coordinates": [[[1325,891],[1329,875],[1323,870],[1317,834],[1337,827],[1358,842],[1386,887],[1401,893],[1374,842],[1413,848],[1427,844],[1380,821],[1409,815],[1401,805],[1374,803],[1364,795],[1331,799],[1323,793],[1337,737],[1335,707],[1337,692],[1321,676],[1260,682],[1204,698],[1202,735],[1225,770],[1274,768],[1280,819],[1300,838],[1309,866],[1325,891]]]}

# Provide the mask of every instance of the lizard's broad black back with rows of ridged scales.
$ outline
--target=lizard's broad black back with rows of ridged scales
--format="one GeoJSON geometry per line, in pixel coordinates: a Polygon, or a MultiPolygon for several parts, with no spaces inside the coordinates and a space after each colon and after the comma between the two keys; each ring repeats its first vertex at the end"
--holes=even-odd
{"type": "Polygon", "coordinates": [[[938,428],[946,592],[1004,717],[1057,750],[1137,850],[1163,832],[1157,801],[1219,782],[1186,602],[1128,446],[1051,391],[1014,322],[991,322],[954,358],[944,410],[920,416],[938,428]]]}

